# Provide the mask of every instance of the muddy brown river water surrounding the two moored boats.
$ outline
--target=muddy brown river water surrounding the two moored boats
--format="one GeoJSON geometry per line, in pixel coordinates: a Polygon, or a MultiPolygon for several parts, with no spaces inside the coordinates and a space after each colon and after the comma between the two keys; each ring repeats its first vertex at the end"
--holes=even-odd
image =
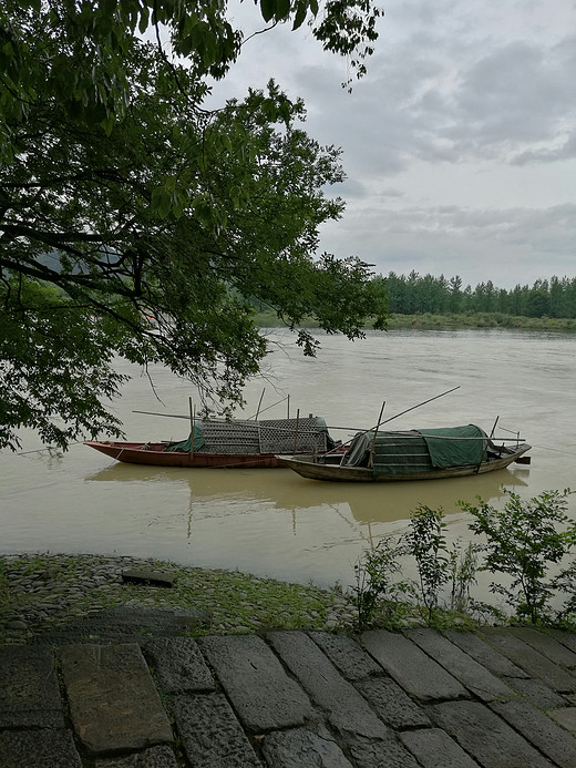
{"type": "MultiPolygon", "coordinates": [[[[393,330],[349,342],[318,334],[316,359],[288,332],[268,331],[265,377],[246,389],[245,416],[322,416],[338,439],[378,421],[385,401],[392,429],[477,423],[521,431],[532,464],[485,475],[415,483],[305,480],[289,470],[184,470],[120,464],[82,444],[64,453],[28,452],[0,463],[0,552],[154,556],[330,586],[354,583],[353,565],[382,535],[407,526],[419,504],[442,506],[449,540],[470,539],[455,504],[481,495],[502,503],[502,487],[523,498],[574,483],[576,336],[512,330],[393,330]],[[279,402],[281,401],[281,402],[279,402]],[[277,405],[274,405],[277,403],[277,405]],[[270,407],[272,406],[272,407],[270,407]],[[346,429],[332,429],[343,427],[346,429]]],[[[128,440],[183,439],[187,422],[134,411],[187,413],[194,392],[169,371],[132,379],[114,410],[128,440]]],[[[502,432],[501,432],[502,434],[502,432]]],[[[506,432],[507,437],[511,437],[506,432]]],[[[576,502],[570,498],[570,513],[576,502]]]]}

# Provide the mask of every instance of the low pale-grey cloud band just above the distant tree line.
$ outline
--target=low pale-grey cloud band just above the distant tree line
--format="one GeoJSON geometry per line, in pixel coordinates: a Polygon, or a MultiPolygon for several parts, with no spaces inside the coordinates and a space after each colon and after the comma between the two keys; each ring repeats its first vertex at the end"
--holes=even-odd
{"type": "Polygon", "coordinates": [[[576,204],[544,209],[351,206],[322,238],[328,250],[330,243],[337,252],[349,249],[384,275],[415,269],[460,275],[472,285],[492,279],[498,287],[574,275],[575,242],[576,204]]]}

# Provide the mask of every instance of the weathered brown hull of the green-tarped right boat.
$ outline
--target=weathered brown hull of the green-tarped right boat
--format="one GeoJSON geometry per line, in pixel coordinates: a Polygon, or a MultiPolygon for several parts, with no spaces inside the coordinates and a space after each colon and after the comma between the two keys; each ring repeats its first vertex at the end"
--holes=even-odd
{"type": "Polygon", "coordinates": [[[366,467],[341,467],[340,464],[320,463],[315,457],[278,457],[285,467],[294,470],[302,478],[310,480],[328,480],[331,482],[399,482],[413,480],[448,480],[449,478],[464,478],[471,474],[484,474],[505,469],[514,461],[518,461],[532,447],[522,443],[500,459],[483,461],[480,464],[466,464],[464,467],[450,467],[446,469],[431,470],[426,472],[405,472],[395,474],[374,474],[366,467]]]}

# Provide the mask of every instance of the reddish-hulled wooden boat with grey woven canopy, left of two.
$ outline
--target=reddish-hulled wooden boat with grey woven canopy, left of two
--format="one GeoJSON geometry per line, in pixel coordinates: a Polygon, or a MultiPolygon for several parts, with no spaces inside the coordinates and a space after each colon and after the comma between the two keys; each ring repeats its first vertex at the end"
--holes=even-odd
{"type": "Polygon", "coordinates": [[[181,442],[84,443],[116,461],[155,467],[284,467],[278,453],[325,452],[335,443],[323,419],[202,420],[181,442]]]}

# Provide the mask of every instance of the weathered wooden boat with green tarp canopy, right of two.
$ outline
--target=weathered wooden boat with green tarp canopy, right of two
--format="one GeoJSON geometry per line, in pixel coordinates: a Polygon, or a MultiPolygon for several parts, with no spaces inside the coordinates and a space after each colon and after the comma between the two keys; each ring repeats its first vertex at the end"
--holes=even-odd
{"type": "Polygon", "coordinates": [[[278,457],[291,470],[311,480],[395,482],[462,478],[529,463],[529,449],[520,438],[496,444],[475,424],[403,432],[357,434],[340,455],[278,457]]]}

